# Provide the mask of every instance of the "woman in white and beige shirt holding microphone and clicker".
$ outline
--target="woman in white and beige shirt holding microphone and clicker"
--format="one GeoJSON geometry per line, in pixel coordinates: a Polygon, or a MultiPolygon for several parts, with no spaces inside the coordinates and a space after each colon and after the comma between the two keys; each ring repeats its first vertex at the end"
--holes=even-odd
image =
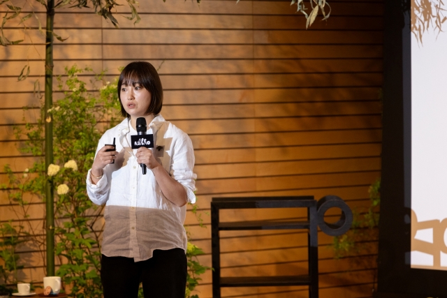
{"type": "MultiPolygon", "coordinates": [[[[105,204],[101,248],[104,297],[184,298],[186,203],[195,202],[196,174],[188,135],[165,121],[163,89],[154,66],[132,62],[119,76],[126,119],[106,131],[87,174],[87,193],[105,204]],[[131,149],[136,119],[144,117],[154,148],[131,149]],[[106,144],[116,142],[114,147],[106,144]],[[110,151],[111,150],[111,151],[110,151]],[[147,166],[142,174],[140,164],[147,166]]],[[[115,143],[114,143],[115,144],[115,143]]]]}

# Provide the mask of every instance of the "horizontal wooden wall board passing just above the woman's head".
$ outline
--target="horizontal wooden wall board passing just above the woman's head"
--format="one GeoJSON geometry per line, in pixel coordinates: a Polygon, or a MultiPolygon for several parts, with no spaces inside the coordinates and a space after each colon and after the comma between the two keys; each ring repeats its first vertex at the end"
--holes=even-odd
{"type": "MultiPolygon", "coordinates": [[[[27,45],[6,47],[0,60],[44,57],[45,48],[36,45],[37,52],[27,45]]],[[[54,59],[321,59],[321,58],[381,58],[381,45],[54,45],[54,59]]]]}

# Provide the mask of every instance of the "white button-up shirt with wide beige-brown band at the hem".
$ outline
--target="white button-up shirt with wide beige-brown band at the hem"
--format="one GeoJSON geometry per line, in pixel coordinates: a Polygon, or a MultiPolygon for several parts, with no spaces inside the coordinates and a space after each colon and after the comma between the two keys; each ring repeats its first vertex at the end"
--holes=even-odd
{"type": "MultiPolygon", "coordinates": [[[[191,139],[160,114],[151,121],[147,133],[154,134],[151,150],[156,160],[184,186],[188,201],[196,202],[191,139]]],[[[104,133],[96,153],[105,144],[112,144],[115,137],[118,155],[115,163],[104,167],[103,177],[96,185],[91,183],[89,170],[87,193],[95,204],[105,204],[101,252],[138,262],[152,258],[155,249],[186,251],[187,240],[183,228],[186,206],[178,207],[166,199],[151,170],[142,174],[136,149],[131,149],[130,136],[136,134],[129,119],[104,133]]]]}

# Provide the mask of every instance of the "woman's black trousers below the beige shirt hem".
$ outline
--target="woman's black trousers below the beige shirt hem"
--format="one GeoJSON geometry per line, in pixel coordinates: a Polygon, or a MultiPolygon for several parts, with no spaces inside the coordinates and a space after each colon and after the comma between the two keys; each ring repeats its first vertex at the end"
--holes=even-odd
{"type": "Polygon", "coordinates": [[[184,298],[186,255],[182,248],[155,250],[149,260],[101,258],[104,298],[136,298],[142,282],[145,298],[184,298]]]}

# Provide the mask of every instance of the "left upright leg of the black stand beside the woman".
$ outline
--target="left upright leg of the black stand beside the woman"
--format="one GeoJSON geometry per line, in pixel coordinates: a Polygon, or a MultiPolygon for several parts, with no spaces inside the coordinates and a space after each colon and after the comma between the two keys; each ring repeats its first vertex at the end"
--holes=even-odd
{"type": "Polygon", "coordinates": [[[221,248],[219,241],[219,207],[211,202],[212,297],[221,298],[221,248]]]}

